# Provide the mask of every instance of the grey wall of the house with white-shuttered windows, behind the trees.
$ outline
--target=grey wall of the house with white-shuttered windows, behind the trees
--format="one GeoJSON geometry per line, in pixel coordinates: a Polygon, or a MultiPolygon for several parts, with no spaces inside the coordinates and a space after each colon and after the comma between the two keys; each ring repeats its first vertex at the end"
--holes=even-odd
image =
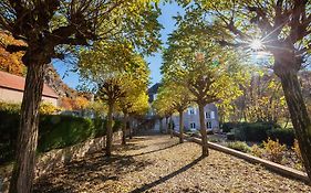
{"type": "MultiPolygon", "coordinates": [[[[195,128],[196,130],[200,129],[200,121],[199,121],[199,109],[197,107],[190,107],[188,109],[186,109],[184,111],[184,129],[185,130],[190,130],[190,125],[195,124],[195,128]],[[193,108],[194,114],[190,114],[189,110],[190,108],[193,108]]],[[[218,110],[215,104],[208,104],[207,106],[205,106],[204,108],[205,114],[208,112],[210,115],[211,111],[214,111],[214,117],[211,118],[206,118],[205,117],[205,124],[207,125],[207,122],[211,124],[211,129],[214,131],[219,131],[219,120],[218,120],[218,110]]],[[[176,114],[173,116],[173,121],[175,125],[175,129],[178,130],[179,129],[179,115],[176,114]]]]}

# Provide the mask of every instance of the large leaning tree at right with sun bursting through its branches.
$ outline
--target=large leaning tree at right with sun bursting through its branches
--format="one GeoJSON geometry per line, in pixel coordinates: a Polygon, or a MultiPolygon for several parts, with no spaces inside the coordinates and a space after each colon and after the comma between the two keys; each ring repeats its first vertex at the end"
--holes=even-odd
{"type": "MultiPolygon", "coordinates": [[[[183,1],[183,0],[182,0],[183,1]]],[[[311,120],[298,81],[311,44],[311,4],[308,0],[195,0],[190,11],[204,21],[211,17],[221,29],[222,45],[247,46],[269,52],[273,72],[281,79],[305,171],[311,176],[311,120]],[[205,15],[205,17],[204,17],[205,15]]],[[[187,1],[183,1],[187,4],[187,1]]],[[[190,10],[190,9],[188,9],[190,10]]],[[[207,22],[206,20],[204,21],[207,22]]],[[[208,21],[210,23],[210,20],[208,21]]]]}

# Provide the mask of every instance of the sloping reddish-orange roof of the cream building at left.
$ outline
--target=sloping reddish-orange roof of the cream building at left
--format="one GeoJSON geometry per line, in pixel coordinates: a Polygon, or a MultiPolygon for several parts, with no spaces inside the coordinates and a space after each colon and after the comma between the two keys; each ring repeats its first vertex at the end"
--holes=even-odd
{"type": "MultiPolygon", "coordinates": [[[[25,78],[0,71],[0,87],[23,92],[25,78]]],[[[59,98],[59,95],[44,84],[42,96],[59,98]]]]}

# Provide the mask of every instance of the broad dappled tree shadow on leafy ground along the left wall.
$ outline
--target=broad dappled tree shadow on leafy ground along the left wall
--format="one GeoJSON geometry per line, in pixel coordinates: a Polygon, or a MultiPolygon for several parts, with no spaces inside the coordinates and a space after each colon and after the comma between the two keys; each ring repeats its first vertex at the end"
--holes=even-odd
{"type": "Polygon", "coordinates": [[[128,156],[106,158],[103,152],[99,152],[41,175],[37,179],[33,192],[87,192],[90,187],[96,184],[108,180],[117,181],[123,174],[144,170],[149,164],[152,162],[136,161],[128,156]]]}

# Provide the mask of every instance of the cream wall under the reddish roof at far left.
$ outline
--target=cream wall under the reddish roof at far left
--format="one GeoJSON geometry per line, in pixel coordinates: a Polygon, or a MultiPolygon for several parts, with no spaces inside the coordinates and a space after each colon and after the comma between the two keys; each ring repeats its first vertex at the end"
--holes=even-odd
{"type": "MultiPolygon", "coordinates": [[[[23,92],[0,88],[0,101],[18,104],[22,101],[23,92]]],[[[58,106],[58,99],[51,97],[42,97],[43,101],[51,103],[54,106],[58,106]]]]}

